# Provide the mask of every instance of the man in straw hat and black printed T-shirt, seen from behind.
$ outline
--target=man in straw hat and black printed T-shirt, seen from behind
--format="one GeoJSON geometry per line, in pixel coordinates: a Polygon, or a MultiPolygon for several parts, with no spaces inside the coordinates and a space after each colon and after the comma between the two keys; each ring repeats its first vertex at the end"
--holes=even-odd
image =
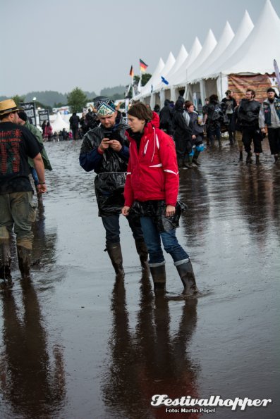
{"type": "Polygon", "coordinates": [[[18,266],[23,280],[30,279],[32,223],[36,204],[29,180],[28,157],[39,177],[38,192],[47,192],[41,146],[25,127],[18,125],[18,106],[13,99],[0,101],[0,278],[12,287],[11,233],[16,234],[18,266]]]}

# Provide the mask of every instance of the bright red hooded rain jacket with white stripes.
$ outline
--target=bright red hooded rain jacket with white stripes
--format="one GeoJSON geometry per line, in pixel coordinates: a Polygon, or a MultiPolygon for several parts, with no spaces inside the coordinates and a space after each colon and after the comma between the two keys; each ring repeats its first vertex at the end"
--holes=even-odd
{"type": "Polygon", "coordinates": [[[164,199],[166,205],[176,205],[179,175],[175,144],[169,135],[154,127],[157,123],[154,117],[145,125],[139,153],[135,140],[126,132],[130,157],[124,188],[125,206],[132,206],[135,200],[157,199],[164,199]]]}

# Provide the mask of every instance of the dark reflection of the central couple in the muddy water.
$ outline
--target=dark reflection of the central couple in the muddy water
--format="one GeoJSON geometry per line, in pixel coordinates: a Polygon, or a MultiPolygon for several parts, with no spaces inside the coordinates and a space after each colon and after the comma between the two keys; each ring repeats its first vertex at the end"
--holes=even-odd
{"type": "MultiPolygon", "coordinates": [[[[116,282],[111,310],[111,361],[103,387],[109,413],[126,418],[173,418],[166,406],[151,406],[154,394],[171,399],[197,397],[197,365],[186,348],[196,325],[197,299],[183,300],[178,331],[171,332],[171,301],[153,296],[149,278],[141,281],[140,310],[135,332],[130,330],[123,281],[116,282]]],[[[199,409],[198,409],[199,410],[199,409]]],[[[200,413],[176,413],[176,418],[200,418],[200,413]]]]}

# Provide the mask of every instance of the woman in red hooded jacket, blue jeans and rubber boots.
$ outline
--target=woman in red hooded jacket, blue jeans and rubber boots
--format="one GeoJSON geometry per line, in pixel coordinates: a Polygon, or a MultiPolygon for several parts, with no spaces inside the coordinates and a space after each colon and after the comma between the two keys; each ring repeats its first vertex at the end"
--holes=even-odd
{"type": "Polygon", "coordinates": [[[165,289],[166,284],[162,239],[183,282],[183,294],[197,294],[190,258],[175,233],[181,208],[177,204],[179,177],[174,141],[159,130],[159,116],[144,104],[130,108],[128,125],[130,158],[122,213],[140,215],[154,289],[165,289]]]}

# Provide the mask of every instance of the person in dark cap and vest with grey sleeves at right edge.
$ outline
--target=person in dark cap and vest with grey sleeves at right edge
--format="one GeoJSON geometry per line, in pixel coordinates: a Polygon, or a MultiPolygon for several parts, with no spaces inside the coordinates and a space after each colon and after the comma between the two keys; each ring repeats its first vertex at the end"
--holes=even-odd
{"type": "Polygon", "coordinates": [[[259,125],[263,135],[267,125],[270,152],[276,163],[280,154],[280,99],[272,87],[267,89],[267,99],[260,107],[259,125]]]}

